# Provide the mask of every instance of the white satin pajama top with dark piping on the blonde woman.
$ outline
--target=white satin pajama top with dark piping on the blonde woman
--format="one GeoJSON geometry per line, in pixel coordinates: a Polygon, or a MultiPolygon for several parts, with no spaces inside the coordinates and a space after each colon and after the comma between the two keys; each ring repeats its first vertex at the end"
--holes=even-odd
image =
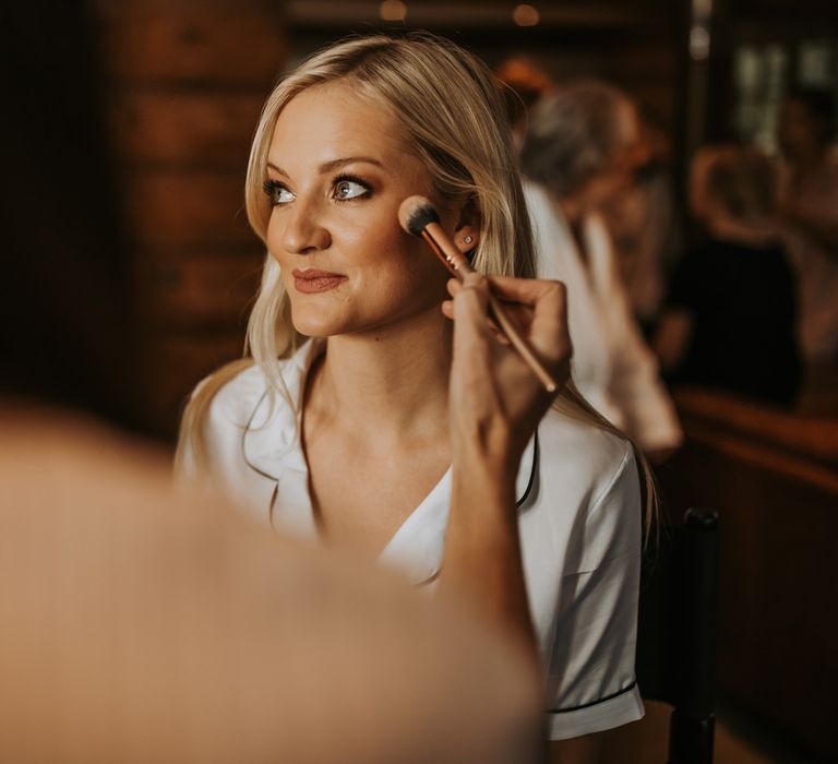
{"type": "MultiPolygon", "coordinates": [[[[321,349],[309,342],[282,361],[295,406],[321,349]]],[[[204,430],[212,473],[247,512],[316,538],[295,410],[279,395],[272,406],[266,391],[262,371],[252,367],[217,393],[204,430]]],[[[190,453],[180,463],[194,471],[190,453]]],[[[448,469],[381,554],[414,584],[431,582],[444,564],[451,481],[448,469]]],[[[634,654],[642,510],[631,445],[551,410],[524,453],[516,491],[550,737],[641,718],[634,654]]]]}

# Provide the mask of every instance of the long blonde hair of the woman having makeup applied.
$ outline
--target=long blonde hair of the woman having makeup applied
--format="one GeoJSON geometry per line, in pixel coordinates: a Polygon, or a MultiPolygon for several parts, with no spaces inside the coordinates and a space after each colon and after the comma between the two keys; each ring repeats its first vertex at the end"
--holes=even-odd
{"type": "MultiPolygon", "coordinates": [[[[428,33],[350,38],[314,53],[274,88],[253,139],[244,188],[248,219],[263,241],[271,217],[263,183],[276,120],[299,93],[336,82],[393,115],[406,145],[423,162],[442,198],[476,202],[481,216],[471,260],[476,270],[525,278],[536,275],[529,217],[496,80],[478,58],[428,33]]],[[[288,398],[279,359],[292,355],[304,337],[294,329],[279,276],[279,265],[268,253],[248,324],[246,355],[262,369],[272,394],[288,398]]],[[[217,371],[187,406],[181,446],[189,443],[199,465],[204,461],[201,431],[210,402],[246,365],[247,360],[238,361],[217,371]]],[[[621,434],[572,386],[555,407],[621,434]]]]}

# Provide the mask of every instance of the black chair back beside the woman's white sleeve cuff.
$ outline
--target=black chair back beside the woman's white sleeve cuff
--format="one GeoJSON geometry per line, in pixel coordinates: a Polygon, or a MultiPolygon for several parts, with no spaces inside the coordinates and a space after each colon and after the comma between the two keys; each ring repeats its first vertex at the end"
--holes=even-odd
{"type": "Polygon", "coordinates": [[[637,682],[672,706],[668,764],[711,764],[719,520],[689,510],[650,541],[641,573],[637,682]]]}

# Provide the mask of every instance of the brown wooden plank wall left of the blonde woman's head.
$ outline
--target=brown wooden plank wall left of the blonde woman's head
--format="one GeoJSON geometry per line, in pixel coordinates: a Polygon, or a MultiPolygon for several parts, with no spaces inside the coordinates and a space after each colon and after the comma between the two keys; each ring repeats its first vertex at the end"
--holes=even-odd
{"type": "Polygon", "coordinates": [[[276,0],[95,0],[132,265],[147,428],[171,438],[197,380],[237,358],[264,249],[243,183],[287,55],[276,0]]]}

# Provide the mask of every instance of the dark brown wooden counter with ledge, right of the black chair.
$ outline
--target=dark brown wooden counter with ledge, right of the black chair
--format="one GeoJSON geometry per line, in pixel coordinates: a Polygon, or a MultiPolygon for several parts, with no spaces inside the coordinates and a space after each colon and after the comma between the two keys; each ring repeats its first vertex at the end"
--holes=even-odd
{"type": "Polygon", "coordinates": [[[838,419],[701,391],[678,405],[687,442],[661,482],[673,513],[720,515],[719,688],[834,761],[838,419]]]}

